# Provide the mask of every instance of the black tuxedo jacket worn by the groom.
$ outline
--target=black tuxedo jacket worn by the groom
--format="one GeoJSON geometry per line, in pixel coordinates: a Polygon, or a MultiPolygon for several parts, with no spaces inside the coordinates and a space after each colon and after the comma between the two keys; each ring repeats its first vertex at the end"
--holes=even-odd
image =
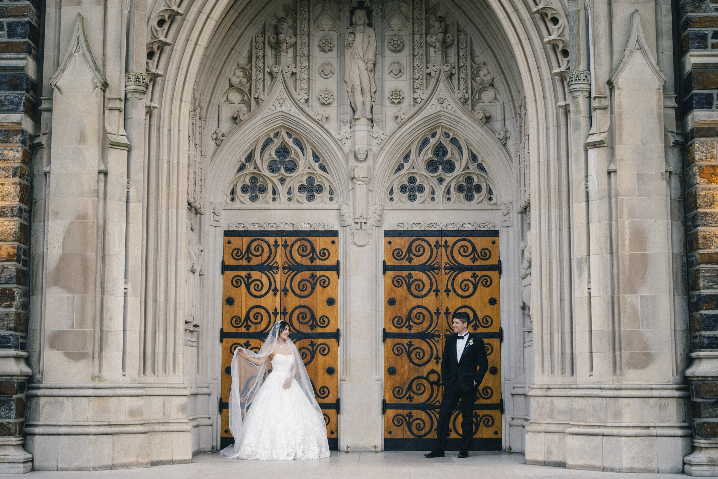
{"type": "Polygon", "coordinates": [[[458,386],[462,391],[469,391],[480,385],[489,368],[484,341],[475,332],[470,332],[460,361],[457,361],[456,342],[457,335],[452,334],[444,343],[444,356],[442,357],[444,390],[458,386]],[[474,386],[474,381],[476,381],[476,386],[474,386]]]}

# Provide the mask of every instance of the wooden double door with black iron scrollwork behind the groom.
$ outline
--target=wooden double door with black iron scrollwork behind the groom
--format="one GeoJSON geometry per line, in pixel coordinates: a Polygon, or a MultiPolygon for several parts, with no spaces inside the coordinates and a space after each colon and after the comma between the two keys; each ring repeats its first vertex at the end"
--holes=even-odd
{"type": "MultiPolygon", "coordinates": [[[[501,340],[498,231],[384,232],[384,449],[432,450],[442,399],[444,340],[468,312],[489,371],[473,412],[472,450],[500,450],[501,340]]],[[[449,422],[458,450],[462,417],[449,422]]]]}

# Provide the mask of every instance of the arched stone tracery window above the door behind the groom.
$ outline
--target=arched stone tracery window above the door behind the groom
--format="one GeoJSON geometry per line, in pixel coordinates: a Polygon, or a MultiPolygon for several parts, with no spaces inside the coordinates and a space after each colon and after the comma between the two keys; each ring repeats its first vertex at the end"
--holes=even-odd
{"type": "Polygon", "coordinates": [[[485,160],[458,134],[437,129],[397,160],[388,205],[495,204],[485,160]]]}

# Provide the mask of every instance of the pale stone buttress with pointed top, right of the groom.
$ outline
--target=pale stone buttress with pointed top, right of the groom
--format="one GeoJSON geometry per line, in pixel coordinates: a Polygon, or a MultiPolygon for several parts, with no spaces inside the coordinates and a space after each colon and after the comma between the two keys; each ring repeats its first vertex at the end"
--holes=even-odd
{"type": "MultiPolygon", "coordinates": [[[[666,77],[653,52],[656,39],[643,33],[638,9],[628,8],[613,10],[613,42],[625,47],[608,78],[612,162],[606,161],[611,155],[589,155],[595,177],[593,184],[589,179],[595,198],[589,284],[597,301],[592,337],[579,355],[586,363],[579,364],[572,392],[566,462],[567,468],[680,473],[690,430],[671,282],[666,77]]],[[[652,19],[653,6],[648,10],[652,19]]]]}

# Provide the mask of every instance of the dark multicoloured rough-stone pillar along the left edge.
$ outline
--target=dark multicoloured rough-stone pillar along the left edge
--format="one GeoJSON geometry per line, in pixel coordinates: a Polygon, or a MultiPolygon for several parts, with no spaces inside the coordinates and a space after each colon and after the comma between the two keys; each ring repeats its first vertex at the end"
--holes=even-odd
{"type": "Polygon", "coordinates": [[[30,151],[38,120],[39,13],[29,1],[0,6],[0,473],[27,473],[24,450],[29,310],[30,151]]]}

